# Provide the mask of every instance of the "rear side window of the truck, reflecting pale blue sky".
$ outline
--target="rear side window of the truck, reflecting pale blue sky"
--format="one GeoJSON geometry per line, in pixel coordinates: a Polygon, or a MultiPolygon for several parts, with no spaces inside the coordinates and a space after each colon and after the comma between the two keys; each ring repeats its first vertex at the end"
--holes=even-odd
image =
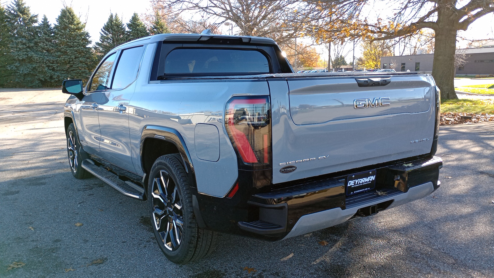
{"type": "Polygon", "coordinates": [[[138,46],[122,51],[117,69],[113,74],[112,89],[125,88],[135,80],[144,48],[144,46],[138,46]]]}

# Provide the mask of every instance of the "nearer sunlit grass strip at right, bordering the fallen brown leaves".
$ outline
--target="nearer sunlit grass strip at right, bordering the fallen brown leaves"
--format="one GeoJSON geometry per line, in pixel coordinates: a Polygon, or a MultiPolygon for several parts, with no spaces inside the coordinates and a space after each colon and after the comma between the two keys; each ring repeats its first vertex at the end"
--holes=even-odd
{"type": "Polygon", "coordinates": [[[448,99],[441,101],[441,113],[494,114],[494,99],[448,99]]]}

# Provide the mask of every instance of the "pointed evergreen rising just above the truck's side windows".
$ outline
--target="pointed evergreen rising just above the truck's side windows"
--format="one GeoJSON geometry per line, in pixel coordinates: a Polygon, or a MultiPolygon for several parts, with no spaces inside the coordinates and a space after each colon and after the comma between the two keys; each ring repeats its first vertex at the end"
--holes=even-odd
{"type": "Polygon", "coordinates": [[[99,42],[96,43],[95,47],[98,58],[103,57],[115,46],[119,46],[127,41],[124,23],[118,14],[115,14],[114,16],[113,13],[110,13],[108,21],[105,23],[99,34],[99,42]]]}

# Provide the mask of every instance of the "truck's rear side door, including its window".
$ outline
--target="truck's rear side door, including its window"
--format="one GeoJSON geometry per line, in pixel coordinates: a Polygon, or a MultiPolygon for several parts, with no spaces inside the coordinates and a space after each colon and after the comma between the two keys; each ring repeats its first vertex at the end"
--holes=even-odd
{"type": "Polygon", "coordinates": [[[112,80],[98,103],[100,153],[98,156],[114,165],[134,172],[130,149],[128,106],[135,91],[135,80],[146,46],[119,52],[112,80]]]}

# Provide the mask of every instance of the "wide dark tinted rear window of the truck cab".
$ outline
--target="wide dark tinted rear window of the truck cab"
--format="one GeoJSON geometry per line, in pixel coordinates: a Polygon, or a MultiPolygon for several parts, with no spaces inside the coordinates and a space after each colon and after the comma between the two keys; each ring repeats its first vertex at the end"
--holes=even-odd
{"type": "Polygon", "coordinates": [[[165,73],[269,73],[266,56],[245,49],[175,49],[165,59],[165,73]]]}

